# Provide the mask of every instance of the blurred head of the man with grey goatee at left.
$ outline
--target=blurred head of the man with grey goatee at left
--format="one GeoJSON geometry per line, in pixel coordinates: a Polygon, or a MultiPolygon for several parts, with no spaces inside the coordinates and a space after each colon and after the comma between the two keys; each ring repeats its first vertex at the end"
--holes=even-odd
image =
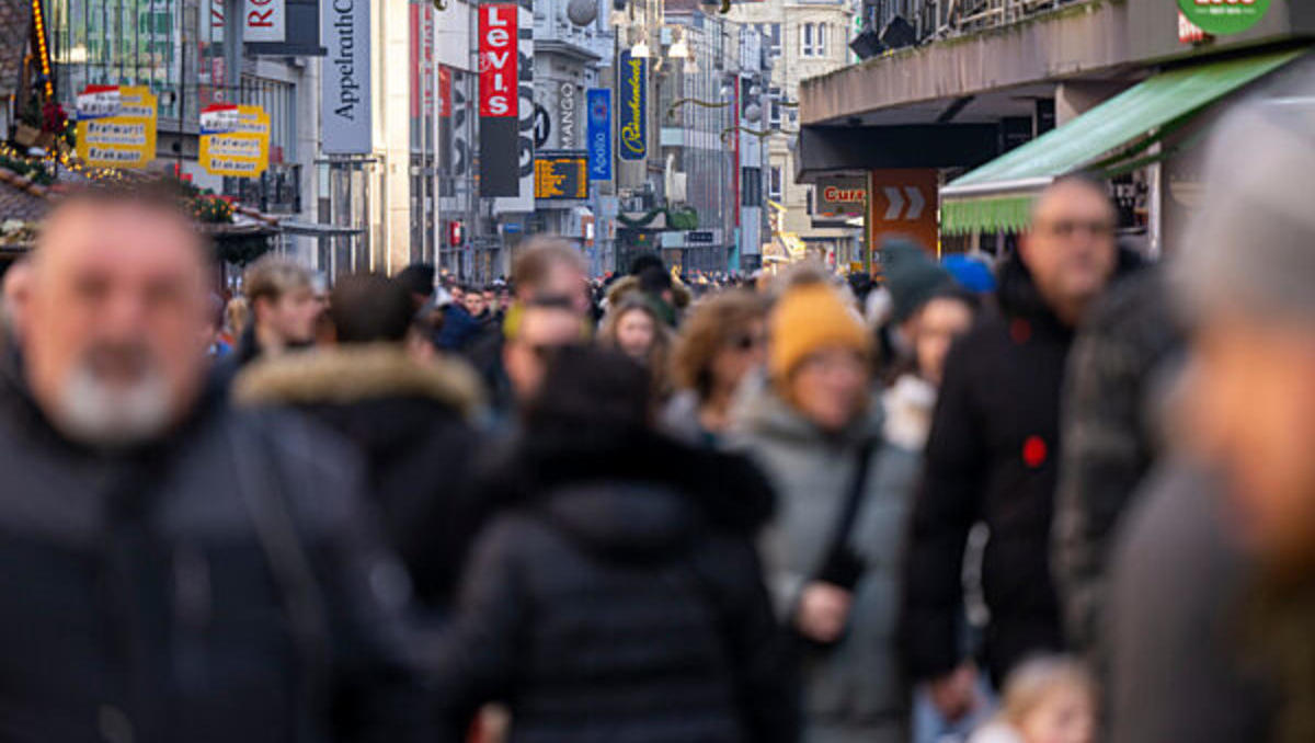
{"type": "Polygon", "coordinates": [[[129,192],[68,199],[50,214],[20,337],[38,405],[92,444],[163,434],[205,375],[209,266],[170,203],[129,192]]]}

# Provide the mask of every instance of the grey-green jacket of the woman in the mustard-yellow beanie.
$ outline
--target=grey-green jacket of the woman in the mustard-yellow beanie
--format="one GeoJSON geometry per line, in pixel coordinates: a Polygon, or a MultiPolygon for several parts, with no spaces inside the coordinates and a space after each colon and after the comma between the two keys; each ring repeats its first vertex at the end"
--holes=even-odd
{"type": "MultiPolygon", "coordinates": [[[[893,408],[898,405],[892,401],[893,408]]],[[[802,681],[807,725],[844,729],[873,742],[907,740],[909,689],[896,650],[899,558],[918,473],[918,450],[884,431],[884,404],[839,434],[826,434],[763,387],[736,410],[731,444],[743,447],[776,485],[781,509],[763,539],[764,562],[782,623],[794,622],[805,584],[815,577],[852,488],[864,441],[877,442],[849,546],[865,563],[842,640],[805,652],[802,681]]]]}

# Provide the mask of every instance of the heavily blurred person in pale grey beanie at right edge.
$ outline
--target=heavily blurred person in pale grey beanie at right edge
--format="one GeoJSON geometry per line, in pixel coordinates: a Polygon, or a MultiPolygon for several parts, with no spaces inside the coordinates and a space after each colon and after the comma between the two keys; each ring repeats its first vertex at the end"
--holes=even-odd
{"type": "Polygon", "coordinates": [[[1308,99],[1252,104],[1214,135],[1177,264],[1197,322],[1177,438],[1222,476],[1165,480],[1122,540],[1120,743],[1315,739],[1312,120],[1308,99]]]}

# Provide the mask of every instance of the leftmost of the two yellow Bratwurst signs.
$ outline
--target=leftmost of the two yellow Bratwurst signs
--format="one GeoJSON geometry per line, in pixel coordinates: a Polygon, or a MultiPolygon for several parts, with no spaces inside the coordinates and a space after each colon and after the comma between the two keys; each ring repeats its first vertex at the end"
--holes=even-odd
{"type": "Polygon", "coordinates": [[[145,85],[78,93],[78,156],[91,167],[141,168],[155,159],[155,96],[145,85]]]}

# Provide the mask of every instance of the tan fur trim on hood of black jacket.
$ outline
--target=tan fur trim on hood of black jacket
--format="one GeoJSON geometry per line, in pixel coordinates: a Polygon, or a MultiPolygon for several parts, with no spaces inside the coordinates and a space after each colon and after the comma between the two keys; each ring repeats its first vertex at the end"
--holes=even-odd
{"type": "Polygon", "coordinates": [[[316,348],[263,359],[233,384],[238,405],[348,405],[385,397],[442,402],[469,416],[481,404],[479,377],[463,363],[423,364],[398,343],[316,348]]]}

